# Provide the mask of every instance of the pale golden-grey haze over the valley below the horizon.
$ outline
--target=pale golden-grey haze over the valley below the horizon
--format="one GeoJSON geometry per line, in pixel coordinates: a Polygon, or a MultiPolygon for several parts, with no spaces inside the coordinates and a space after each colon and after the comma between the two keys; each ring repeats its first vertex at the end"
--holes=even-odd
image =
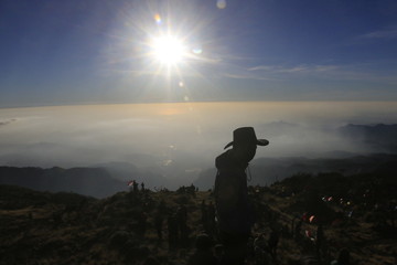
{"type": "MultiPolygon", "coordinates": [[[[0,165],[106,168],[121,181],[175,189],[214,172],[233,130],[253,126],[270,145],[251,167],[281,158],[348,158],[395,153],[397,105],[376,102],[242,102],[4,108],[0,165]],[[376,126],[385,124],[384,126],[376,126]],[[363,127],[355,125],[365,125],[363,127]],[[385,127],[385,128],[384,128],[385,127]],[[373,134],[365,129],[372,128],[373,134]],[[385,135],[388,131],[388,136],[385,135]],[[380,137],[377,137],[380,136],[380,137]],[[210,170],[210,171],[208,171],[210,170]]],[[[287,161],[287,160],[288,161],[287,161]]],[[[269,183],[287,177],[267,172],[269,183]]],[[[266,174],[266,170],[257,172],[266,174]]],[[[293,171],[291,171],[293,173],[293,171]]],[[[208,177],[206,177],[208,178],[208,177]]],[[[208,188],[211,178],[198,187],[208,188]]]]}

